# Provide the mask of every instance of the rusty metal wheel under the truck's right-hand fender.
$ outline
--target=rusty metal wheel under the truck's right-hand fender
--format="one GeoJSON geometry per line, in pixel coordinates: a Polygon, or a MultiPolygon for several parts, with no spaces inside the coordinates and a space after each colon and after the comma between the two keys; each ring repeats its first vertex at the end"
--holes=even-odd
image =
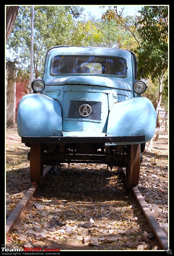
{"type": "Polygon", "coordinates": [[[140,176],[140,144],[126,146],[126,186],[137,186],[140,176]]]}

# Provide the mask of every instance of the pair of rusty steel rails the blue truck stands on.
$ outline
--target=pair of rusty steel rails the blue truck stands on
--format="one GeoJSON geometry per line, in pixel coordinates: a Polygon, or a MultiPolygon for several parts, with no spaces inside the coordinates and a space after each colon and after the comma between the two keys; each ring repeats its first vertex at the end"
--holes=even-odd
{"type": "MultiPolygon", "coordinates": [[[[46,179],[49,177],[49,172],[51,170],[52,166],[48,166],[44,173],[43,173],[43,179],[46,179]]],[[[125,168],[121,169],[121,172],[125,175],[125,168]]],[[[11,230],[15,229],[15,225],[17,222],[19,222],[23,212],[25,209],[27,209],[27,204],[30,204],[32,202],[32,197],[34,195],[34,192],[36,192],[38,189],[38,186],[33,185],[26,195],[21,199],[19,204],[16,206],[16,208],[13,210],[13,212],[10,214],[10,216],[6,220],[6,237],[9,236],[11,233],[11,230]]],[[[157,222],[156,218],[153,216],[151,210],[148,207],[148,204],[144,200],[143,196],[141,195],[139,189],[137,186],[133,186],[131,188],[132,195],[135,196],[136,201],[138,202],[140,209],[142,210],[146,221],[148,222],[148,225],[153,230],[153,233],[155,234],[156,240],[157,240],[157,250],[167,250],[168,249],[168,238],[166,234],[164,233],[163,229],[160,227],[159,223],[157,222]]],[[[93,206],[95,207],[95,206],[93,206]]],[[[95,209],[95,208],[94,208],[95,209]]],[[[72,208],[73,210],[73,208],[72,208]]],[[[91,232],[95,232],[96,230],[99,231],[97,228],[91,228],[88,230],[91,230],[91,232]]]]}

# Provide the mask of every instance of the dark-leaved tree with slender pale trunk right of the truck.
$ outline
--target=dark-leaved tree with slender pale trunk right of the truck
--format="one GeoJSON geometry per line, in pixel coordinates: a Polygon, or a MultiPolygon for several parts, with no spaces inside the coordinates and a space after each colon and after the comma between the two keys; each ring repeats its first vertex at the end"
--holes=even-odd
{"type": "MultiPolygon", "coordinates": [[[[139,79],[152,78],[159,82],[156,112],[160,108],[163,94],[167,95],[168,79],[168,6],[144,6],[135,19],[117,12],[117,6],[109,6],[102,19],[115,19],[126,28],[136,40],[138,47],[132,49],[137,54],[139,79]],[[163,86],[164,84],[164,86],[163,86]]],[[[152,145],[151,140],[148,149],[152,145]]]]}

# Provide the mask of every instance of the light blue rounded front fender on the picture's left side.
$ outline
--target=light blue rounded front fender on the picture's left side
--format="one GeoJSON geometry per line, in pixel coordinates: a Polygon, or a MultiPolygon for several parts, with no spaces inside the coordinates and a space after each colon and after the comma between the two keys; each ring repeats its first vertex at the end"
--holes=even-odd
{"type": "Polygon", "coordinates": [[[61,136],[62,114],[59,102],[43,94],[26,94],[18,105],[17,129],[20,137],[61,136]]]}

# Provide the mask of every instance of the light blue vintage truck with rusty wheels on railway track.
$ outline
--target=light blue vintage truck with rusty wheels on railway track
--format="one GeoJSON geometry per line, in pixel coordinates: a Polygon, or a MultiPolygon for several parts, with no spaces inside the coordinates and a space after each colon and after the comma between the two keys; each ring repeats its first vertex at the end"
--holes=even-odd
{"type": "Polygon", "coordinates": [[[133,52],[55,46],[42,79],[19,102],[17,128],[30,147],[30,178],[42,184],[46,165],[97,163],[125,167],[126,185],[138,185],[141,152],[152,139],[156,111],[142,97],[133,52]]]}

